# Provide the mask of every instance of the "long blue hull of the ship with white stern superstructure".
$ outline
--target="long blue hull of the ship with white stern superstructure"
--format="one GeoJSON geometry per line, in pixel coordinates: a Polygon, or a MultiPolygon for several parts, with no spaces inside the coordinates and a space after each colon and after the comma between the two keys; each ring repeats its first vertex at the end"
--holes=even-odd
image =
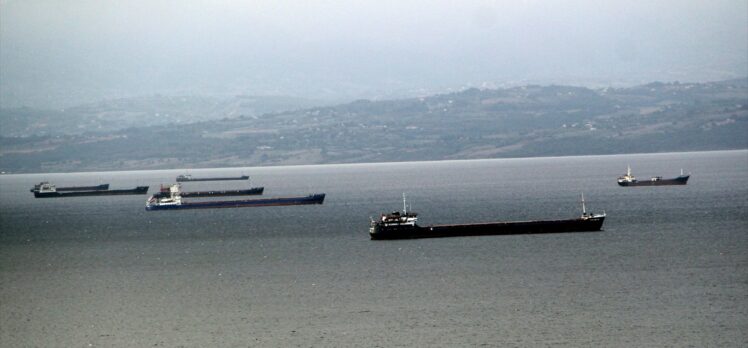
{"type": "Polygon", "coordinates": [[[146,205],[145,210],[180,210],[180,209],[214,209],[242,207],[271,207],[286,205],[322,204],[325,194],[314,194],[303,197],[278,197],[263,199],[246,199],[236,201],[182,202],[177,205],[146,205]]]}

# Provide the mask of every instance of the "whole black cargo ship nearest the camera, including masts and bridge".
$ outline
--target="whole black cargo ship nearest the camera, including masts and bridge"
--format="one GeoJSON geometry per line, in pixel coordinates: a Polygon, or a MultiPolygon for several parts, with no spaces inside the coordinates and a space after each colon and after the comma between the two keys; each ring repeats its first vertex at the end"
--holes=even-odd
{"type": "Polygon", "coordinates": [[[582,216],[565,220],[499,221],[454,225],[419,226],[418,214],[407,211],[403,195],[403,212],[382,214],[371,220],[369,236],[372,240],[415,239],[439,237],[488,236],[506,234],[535,234],[600,231],[605,213],[587,213],[582,197],[582,216]]]}

